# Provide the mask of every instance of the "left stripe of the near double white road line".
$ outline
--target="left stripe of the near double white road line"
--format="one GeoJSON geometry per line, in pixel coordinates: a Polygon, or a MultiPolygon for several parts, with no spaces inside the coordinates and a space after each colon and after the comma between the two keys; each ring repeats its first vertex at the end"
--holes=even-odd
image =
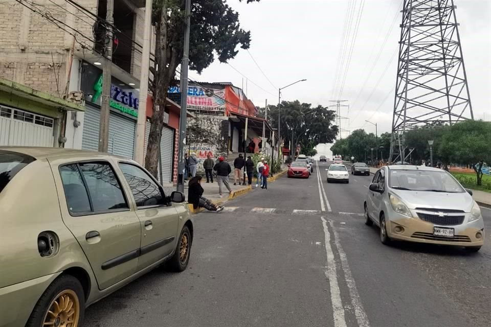
{"type": "Polygon", "coordinates": [[[341,292],[339,290],[338,275],[336,274],[336,261],[334,261],[334,253],[332,252],[329,228],[327,221],[321,217],[322,227],[324,227],[325,246],[327,256],[327,267],[324,274],[329,280],[329,288],[331,293],[332,317],[334,319],[334,327],[346,327],[346,318],[344,316],[343,301],[341,300],[341,292]]]}

